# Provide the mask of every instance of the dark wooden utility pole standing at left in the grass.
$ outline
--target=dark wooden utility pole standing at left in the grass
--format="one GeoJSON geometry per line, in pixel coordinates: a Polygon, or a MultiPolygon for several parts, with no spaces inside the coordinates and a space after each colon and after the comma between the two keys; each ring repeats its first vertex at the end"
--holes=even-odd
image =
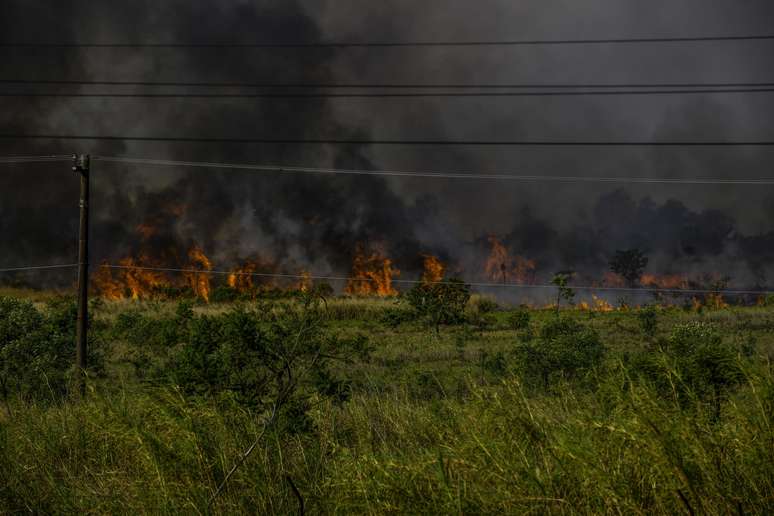
{"type": "Polygon", "coordinates": [[[81,376],[86,370],[89,324],[89,162],[88,154],[73,155],[73,172],[81,176],[81,225],[78,236],[78,322],[75,330],[75,365],[81,376]]]}

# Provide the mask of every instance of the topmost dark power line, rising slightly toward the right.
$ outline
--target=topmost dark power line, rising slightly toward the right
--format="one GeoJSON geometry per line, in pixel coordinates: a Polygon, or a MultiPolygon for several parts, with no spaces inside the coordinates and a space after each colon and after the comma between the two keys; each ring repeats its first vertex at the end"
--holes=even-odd
{"type": "Polygon", "coordinates": [[[597,39],[524,39],[524,40],[479,40],[479,41],[322,41],[306,43],[2,43],[0,48],[103,48],[103,49],[249,49],[249,48],[400,48],[400,47],[493,47],[493,46],[538,46],[538,45],[598,45],[638,43],[702,43],[732,41],[769,41],[770,34],[746,34],[731,36],[693,37],[639,37],[639,38],[597,38],[597,39]]]}

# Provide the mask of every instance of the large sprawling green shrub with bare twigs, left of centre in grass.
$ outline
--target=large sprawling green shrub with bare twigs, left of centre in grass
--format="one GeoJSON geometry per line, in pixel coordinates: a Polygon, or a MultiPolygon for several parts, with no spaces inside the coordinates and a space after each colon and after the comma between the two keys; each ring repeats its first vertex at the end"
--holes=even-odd
{"type": "Polygon", "coordinates": [[[367,341],[338,338],[324,321],[321,303],[311,298],[300,306],[194,317],[172,358],[172,381],[188,394],[234,397],[258,410],[298,409],[315,393],[345,399],[347,382],[330,365],[364,358],[367,341]]]}

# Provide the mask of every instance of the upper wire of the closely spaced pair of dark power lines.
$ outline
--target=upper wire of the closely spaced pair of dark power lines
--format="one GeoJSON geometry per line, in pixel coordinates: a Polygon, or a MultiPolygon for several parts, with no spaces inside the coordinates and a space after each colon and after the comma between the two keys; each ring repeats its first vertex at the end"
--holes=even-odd
{"type": "Polygon", "coordinates": [[[309,88],[309,89],[582,89],[582,88],[761,88],[774,82],[709,83],[503,83],[503,84],[422,84],[422,83],[268,83],[268,82],[165,82],[165,81],[74,81],[59,79],[0,79],[0,84],[43,86],[145,86],[176,88],[309,88]]]}

